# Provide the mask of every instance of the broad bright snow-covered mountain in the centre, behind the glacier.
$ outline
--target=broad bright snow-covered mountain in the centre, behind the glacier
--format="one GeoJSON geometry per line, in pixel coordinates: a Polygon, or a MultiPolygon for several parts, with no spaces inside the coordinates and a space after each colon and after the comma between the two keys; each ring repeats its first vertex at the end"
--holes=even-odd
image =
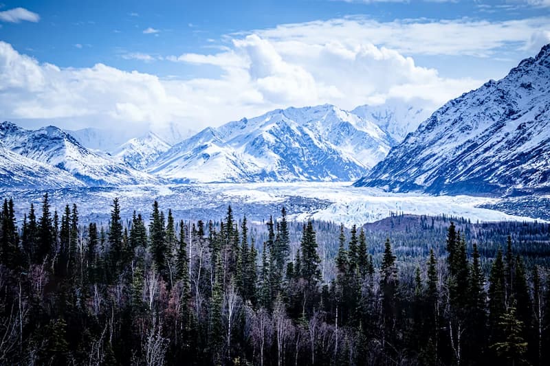
{"type": "Polygon", "coordinates": [[[175,181],[348,181],[393,144],[375,124],[335,106],[278,109],[206,128],[148,172],[175,181]]]}

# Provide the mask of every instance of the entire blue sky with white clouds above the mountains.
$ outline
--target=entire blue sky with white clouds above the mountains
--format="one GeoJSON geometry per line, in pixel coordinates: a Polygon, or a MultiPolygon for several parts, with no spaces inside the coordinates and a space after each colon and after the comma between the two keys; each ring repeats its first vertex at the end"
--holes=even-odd
{"type": "Polygon", "coordinates": [[[200,130],[274,108],[435,109],[550,43],[550,0],[0,0],[0,119],[200,130]]]}

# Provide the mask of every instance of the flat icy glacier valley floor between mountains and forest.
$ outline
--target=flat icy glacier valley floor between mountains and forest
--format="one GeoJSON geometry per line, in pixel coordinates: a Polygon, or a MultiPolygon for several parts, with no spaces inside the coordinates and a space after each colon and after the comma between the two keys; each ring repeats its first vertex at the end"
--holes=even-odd
{"type": "Polygon", "coordinates": [[[377,188],[353,187],[352,183],[192,183],[46,191],[3,189],[0,196],[14,198],[17,208],[21,209],[18,217],[23,217],[30,203],[39,205],[47,192],[53,209],[61,212],[66,204],[76,203],[84,220],[103,222],[109,218],[105,207],[109,207],[115,197],[120,199],[122,218],[131,218],[135,210],[141,212],[145,220],[155,200],[160,207],[170,207],[174,216],[184,220],[223,218],[228,205],[249,220],[265,220],[285,206],[289,220],[303,222],[312,218],[343,223],[347,227],[382,220],[391,214],[447,215],[472,222],[550,219],[548,204],[540,206],[540,211],[532,211],[528,205],[522,209],[522,202],[514,205],[501,198],[388,193],[377,188]]]}

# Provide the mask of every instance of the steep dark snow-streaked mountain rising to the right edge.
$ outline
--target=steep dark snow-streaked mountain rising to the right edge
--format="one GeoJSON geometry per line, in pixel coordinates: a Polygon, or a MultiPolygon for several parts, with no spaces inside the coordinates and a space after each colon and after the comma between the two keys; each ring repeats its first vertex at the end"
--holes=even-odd
{"type": "Polygon", "coordinates": [[[451,100],[357,186],[432,193],[550,189],[550,45],[451,100]]]}

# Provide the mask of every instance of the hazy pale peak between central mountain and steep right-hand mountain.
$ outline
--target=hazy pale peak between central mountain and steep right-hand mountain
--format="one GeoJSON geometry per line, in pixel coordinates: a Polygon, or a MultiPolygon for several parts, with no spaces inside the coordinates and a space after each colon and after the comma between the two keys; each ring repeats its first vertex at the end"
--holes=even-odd
{"type": "Polygon", "coordinates": [[[391,100],[377,106],[358,106],[351,113],[374,122],[395,139],[403,141],[415,131],[433,110],[415,107],[401,100],[391,100]]]}

